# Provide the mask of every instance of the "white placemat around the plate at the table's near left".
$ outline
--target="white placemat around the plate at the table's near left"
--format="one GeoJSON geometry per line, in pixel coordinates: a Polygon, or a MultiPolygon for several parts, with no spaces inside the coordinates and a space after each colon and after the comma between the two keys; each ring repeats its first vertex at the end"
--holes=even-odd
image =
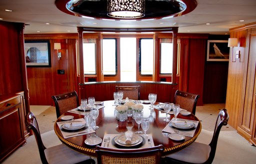
{"type": "MultiPolygon", "coordinates": [[[[85,123],[85,120],[83,118],[74,119],[73,121],[79,121],[79,122],[68,122],[67,125],[69,123],[72,123],[72,126],[75,126],[75,125],[78,126],[78,124],[85,123]]],[[[57,122],[57,125],[58,125],[59,129],[61,129],[62,128],[61,126],[63,125],[63,123],[62,122],[57,122]]],[[[86,130],[87,129],[84,129],[84,130],[81,130],[81,131],[75,131],[75,132],[68,132],[68,131],[62,131],[62,130],[60,130],[60,131],[61,131],[61,134],[62,134],[63,138],[69,138],[69,137],[73,137],[73,136],[85,135],[85,134],[95,132],[95,130],[93,130],[93,129],[90,129],[90,131],[86,131],[86,130]]]]}

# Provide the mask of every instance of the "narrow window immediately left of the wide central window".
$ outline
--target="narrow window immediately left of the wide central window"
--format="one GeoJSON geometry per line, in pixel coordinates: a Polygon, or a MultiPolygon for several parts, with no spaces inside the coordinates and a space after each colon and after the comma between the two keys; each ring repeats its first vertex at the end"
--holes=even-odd
{"type": "Polygon", "coordinates": [[[104,76],[113,76],[117,73],[117,50],[115,38],[103,38],[102,63],[104,76]]]}

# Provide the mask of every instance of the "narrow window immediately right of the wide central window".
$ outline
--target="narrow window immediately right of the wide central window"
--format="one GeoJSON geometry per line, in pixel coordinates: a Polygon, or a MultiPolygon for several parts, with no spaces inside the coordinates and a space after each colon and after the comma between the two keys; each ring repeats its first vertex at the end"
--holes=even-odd
{"type": "Polygon", "coordinates": [[[139,72],[140,75],[153,74],[153,39],[140,38],[139,39],[139,72]]]}

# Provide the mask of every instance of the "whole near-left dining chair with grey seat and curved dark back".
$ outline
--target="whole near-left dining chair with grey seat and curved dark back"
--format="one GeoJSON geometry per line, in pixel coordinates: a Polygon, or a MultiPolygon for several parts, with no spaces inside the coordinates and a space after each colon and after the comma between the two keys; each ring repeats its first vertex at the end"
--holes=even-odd
{"type": "Polygon", "coordinates": [[[42,163],[95,163],[90,156],[72,150],[65,144],[46,148],[41,139],[38,123],[32,112],[26,114],[25,124],[34,133],[42,163]]]}

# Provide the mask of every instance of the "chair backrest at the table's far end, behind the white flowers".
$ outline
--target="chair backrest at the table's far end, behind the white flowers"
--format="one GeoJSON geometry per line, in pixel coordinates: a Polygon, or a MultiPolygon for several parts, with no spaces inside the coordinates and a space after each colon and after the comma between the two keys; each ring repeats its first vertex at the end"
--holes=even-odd
{"type": "Polygon", "coordinates": [[[115,86],[115,91],[123,92],[123,99],[128,97],[129,99],[139,99],[139,85],[137,86],[115,86]]]}

